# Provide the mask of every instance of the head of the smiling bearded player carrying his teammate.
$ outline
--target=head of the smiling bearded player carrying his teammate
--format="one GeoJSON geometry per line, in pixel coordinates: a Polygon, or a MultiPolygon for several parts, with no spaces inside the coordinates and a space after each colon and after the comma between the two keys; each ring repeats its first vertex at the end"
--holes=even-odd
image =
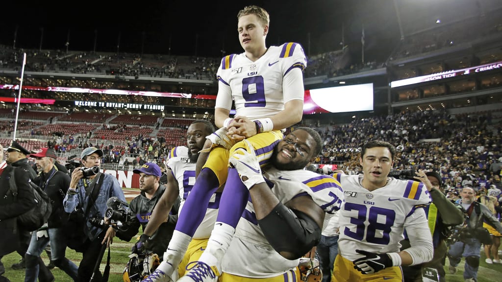
{"type": "Polygon", "coordinates": [[[285,171],[303,169],[311,161],[315,146],[314,138],[307,131],[295,130],[274,148],[272,164],[285,171]]]}

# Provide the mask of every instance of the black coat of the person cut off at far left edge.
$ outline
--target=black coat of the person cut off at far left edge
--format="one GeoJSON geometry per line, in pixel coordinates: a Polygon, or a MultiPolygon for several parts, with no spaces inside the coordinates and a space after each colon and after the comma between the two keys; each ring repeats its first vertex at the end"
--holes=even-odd
{"type": "Polygon", "coordinates": [[[31,186],[29,174],[22,169],[16,169],[14,178],[18,187],[18,195],[10,191],[9,179],[14,168],[7,166],[0,175],[0,256],[15,251],[19,247],[19,234],[21,230],[16,223],[16,217],[29,211],[32,207],[30,197],[31,186]]]}

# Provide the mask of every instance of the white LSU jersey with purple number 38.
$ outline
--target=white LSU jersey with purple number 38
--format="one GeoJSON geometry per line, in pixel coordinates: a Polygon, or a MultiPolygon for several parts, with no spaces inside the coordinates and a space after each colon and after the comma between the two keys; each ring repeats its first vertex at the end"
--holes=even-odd
{"type": "Polygon", "coordinates": [[[338,251],[353,261],[356,249],[376,253],[399,252],[404,228],[423,225],[423,207],[431,202],[425,186],[412,180],[389,178],[387,185],[368,191],[360,185],[362,175],[334,174],[342,185],[345,202],[340,208],[338,251]]]}

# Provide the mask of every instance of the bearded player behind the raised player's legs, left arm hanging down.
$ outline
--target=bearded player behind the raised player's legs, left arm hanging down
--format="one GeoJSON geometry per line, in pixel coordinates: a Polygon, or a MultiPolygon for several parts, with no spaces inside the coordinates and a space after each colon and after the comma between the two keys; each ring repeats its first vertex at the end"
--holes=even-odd
{"type": "MultiPolygon", "coordinates": [[[[196,120],[188,127],[187,146],[175,147],[169,153],[166,172],[166,192],[162,195],[152,211],[148,225],[143,231],[140,240],[133,247],[133,252],[141,252],[145,248],[145,243],[149,240],[149,237],[154,234],[162,223],[168,221],[169,213],[178,196],[181,198],[180,211],[183,208],[183,204],[190,195],[189,193],[195,183],[195,164],[199,157],[199,151],[204,146],[206,136],[213,131],[214,126],[211,122],[207,120],[196,120]]],[[[220,196],[220,192],[216,192],[211,196],[204,220],[196,230],[188,251],[181,262],[182,264],[188,263],[188,261],[192,259],[197,260],[202,253],[200,249],[205,248],[207,239],[209,238],[211,229],[216,220],[220,196]]],[[[163,261],[162,263],[166,262],[163,261]]],[[[180,270],[183,269],[184,267],[180,267],[180,270]]]]}

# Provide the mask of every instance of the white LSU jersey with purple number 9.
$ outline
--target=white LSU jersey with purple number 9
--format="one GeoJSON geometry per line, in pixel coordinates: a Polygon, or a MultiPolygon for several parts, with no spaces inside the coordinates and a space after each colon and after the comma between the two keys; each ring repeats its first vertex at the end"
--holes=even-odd
{"type": "Polygon", "coordinates": [[[306,66],[303,48],[293,42],[270,46],[255,62],[245,53],[225,56],[216,73],[219,86],[215,107],[230,110],[233,99],[236,115],[250,119],[273,116],[284,109],[284,103],[303,101],[303,91],[283,93],[283,79],[294,68],[303,71],[306,66]]]}

